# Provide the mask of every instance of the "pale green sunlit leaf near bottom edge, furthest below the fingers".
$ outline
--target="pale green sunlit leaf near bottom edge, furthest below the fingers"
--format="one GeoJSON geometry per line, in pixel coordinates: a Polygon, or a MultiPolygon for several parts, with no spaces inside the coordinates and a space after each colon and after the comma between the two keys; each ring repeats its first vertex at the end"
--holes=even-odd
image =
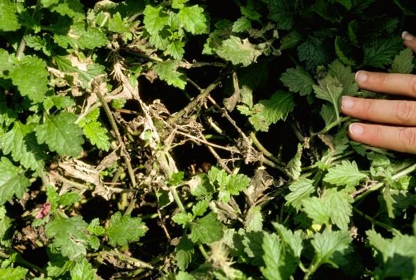
{"type": "Polygon", "coordinates": [[[315,248],[315,265],[329,263],[338,268],[337,254],[345,255],[351,241],[352,237],[347,230],[333,232],[326,229],[322,234],[317,232],[311,241],[315,248]]]}

